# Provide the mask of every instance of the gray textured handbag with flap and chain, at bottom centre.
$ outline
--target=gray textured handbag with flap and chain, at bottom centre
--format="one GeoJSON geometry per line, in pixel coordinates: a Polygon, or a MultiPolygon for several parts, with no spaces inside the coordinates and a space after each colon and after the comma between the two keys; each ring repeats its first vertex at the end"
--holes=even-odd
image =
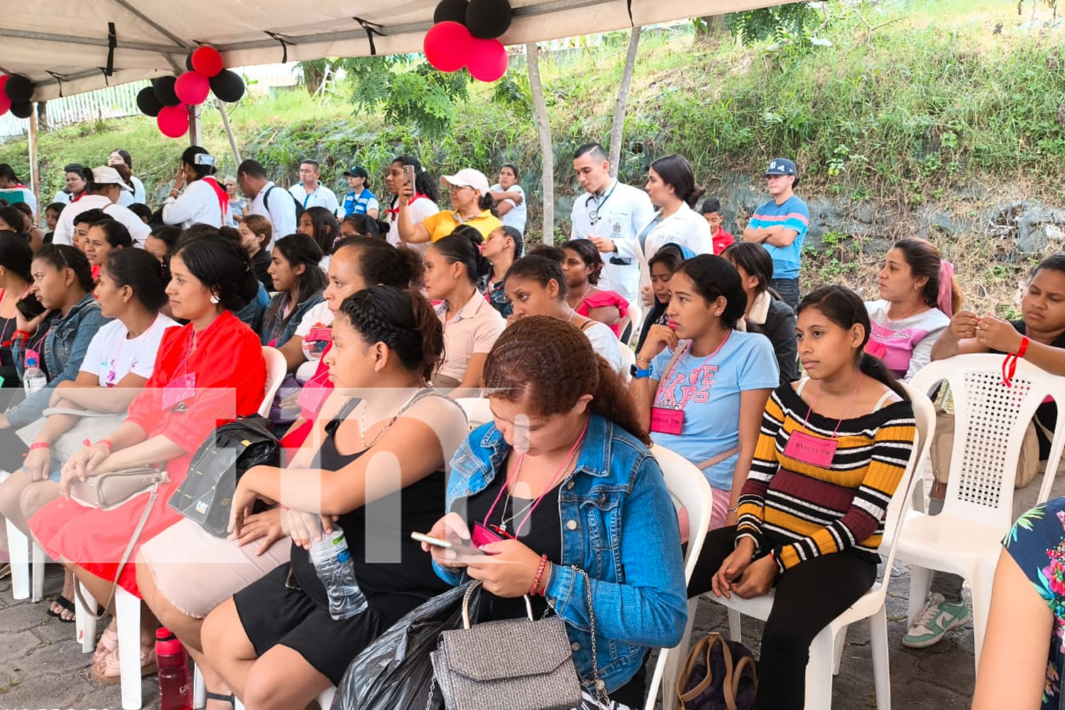
{"type": "MultiPolygon", "coordinates": [[[[534,621],[532,606],[526,596],[528,620],[471,626],[470,598],[479,587],[480,582],[471,584],[462,599],[462,628],[443,631],[437,650],[429,655],[446,710],[572,710],[580,707],[580,679],[573,665],[566,622],[558,616],[534,621]]],[[[594,641],[592,653],[595,653],[594,641]]],[[[595,673],[595,684],[600,688],[597,667],[595,673]]],[[[426,707],[431,704],[430,692],[426,707]]]]}

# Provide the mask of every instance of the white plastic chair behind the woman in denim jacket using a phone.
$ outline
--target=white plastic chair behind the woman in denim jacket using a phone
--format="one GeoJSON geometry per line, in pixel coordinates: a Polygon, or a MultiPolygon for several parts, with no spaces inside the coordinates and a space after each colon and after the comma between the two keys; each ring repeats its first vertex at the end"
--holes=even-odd
{"type": "MultiPolygon", "coordinates": [[[[687,584],[695,571],[699,554],[703,549],[703,541],[706,540],[707,528],[710,527],[710,517],[714,514],[714,490],[706,481],[703,472],[679,453],[657,444],[651,447],[651,452],[662,469],[662,478],[666,480],[666,488],[669,489],[670,496],[673,498],[673,505],[677,509],[683,507],[688,513],[690,531],[688,533],[688,549],[684,557],[684,582],[687,584]]],[[[691,623],[695,614],[694,606],[692,601],[688,602],[688,634],[691,632],[691,623]]],[[[682,641],[682,646],[687,646],[688,634],[682,641]]],[[[666,707],[665,704],[669,701],[669,696],[673,696],[675,701],[674,687],[683,663],[684,654],[678,653],[676,648],[662,648],[658,651],[658,660],[655,662],[651,686],[648,688],[648,701],[644,710],[654,710],[659,689],[661,690],[662,707],[666,707]],[[662,684],[663,679],[668,678],[673,678],[673,682],[662,684]]]]}

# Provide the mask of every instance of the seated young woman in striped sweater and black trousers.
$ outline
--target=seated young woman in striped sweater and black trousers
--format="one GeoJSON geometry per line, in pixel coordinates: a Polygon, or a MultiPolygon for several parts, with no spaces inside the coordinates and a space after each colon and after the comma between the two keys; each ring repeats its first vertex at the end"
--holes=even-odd
{"type": "Polygon", "coordinates": [[[808,377],[766,404],[738,525],[710,531],[688,588],[751,598],[776,587],[755,710],[803,707],[810,642],[875,581],[916,433],[905,392],[864,352],[869,315],[855,293],[813,292],[796,331],[808,377]]]}

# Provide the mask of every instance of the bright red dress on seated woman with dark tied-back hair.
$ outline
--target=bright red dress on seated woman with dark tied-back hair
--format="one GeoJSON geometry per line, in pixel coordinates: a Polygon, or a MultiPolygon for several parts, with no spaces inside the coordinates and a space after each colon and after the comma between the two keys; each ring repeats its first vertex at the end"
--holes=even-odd
{"type": "MultiPolygon", "coordinates": [[[[162,434],[185,451],[166,462],[170,480],[160,486],[148,522],[118,580],[137,596],[141,594],[133,561],[141,542],[181,519],[181,514],[166,502],[184,480],[193,455],[218,425],[232,422],[235,415],[255,414],[266,386],[259,336],[235,315],[223,312],[198,334],[196,349],[190,353],[192,331],[192,324],[166,330],[151,379],[130,404],[126,417],[144,429],[149,439],[162,434]],[[164,410],[163,389],[186,373],[195,375],[196,395],[185,400],[184,411],[164,410]],[[211,391],[204,392],[207,387],[211,391]]],[[[113,581],[147,502],[147,496],[138,496],[118,508],[99,510],[60,498],[42,508],[30,519],[30,528],[52,559],[73,562],[113,581]]]]}

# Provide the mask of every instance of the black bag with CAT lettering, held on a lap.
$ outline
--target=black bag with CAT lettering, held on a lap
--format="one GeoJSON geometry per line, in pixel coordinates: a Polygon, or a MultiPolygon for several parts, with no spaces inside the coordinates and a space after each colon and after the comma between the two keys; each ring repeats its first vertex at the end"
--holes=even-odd
{"type": "Polygon", "coordinates": [[[281,445],[271,433],[268,419],[248,416],[224,424],[196,450],[185,480],[167,505],[214,536],[226,538],[241,476],[252,466],[280,464],[281,445]]]}

